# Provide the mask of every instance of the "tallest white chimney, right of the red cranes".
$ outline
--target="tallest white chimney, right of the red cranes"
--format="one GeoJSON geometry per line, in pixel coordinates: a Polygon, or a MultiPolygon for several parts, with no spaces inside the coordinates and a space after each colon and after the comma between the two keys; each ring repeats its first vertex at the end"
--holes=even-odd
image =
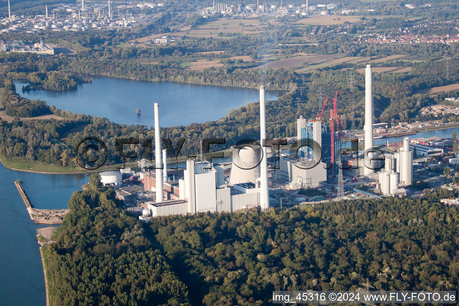
{"type": "MultiPolygon", "coordinates": [[[[373,149],[373,85],[371,83],[371,65],[365,68],[365,150],[373,149]]],[[[373,153],[369,153],[370,160],[373,158],[373,153]]],[[[367,165],[374,166],[374,161],[367,162],[367,165]]],[[[375,173],[375,170],[364,166],[364,174],[369,175],[375,173]]]]}

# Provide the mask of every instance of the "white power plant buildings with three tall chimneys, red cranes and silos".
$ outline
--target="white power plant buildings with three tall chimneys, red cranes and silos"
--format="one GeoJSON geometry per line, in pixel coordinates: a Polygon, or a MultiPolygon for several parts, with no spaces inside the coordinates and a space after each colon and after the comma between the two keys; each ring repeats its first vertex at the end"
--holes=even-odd
{"type": "Polygon", "coordinates": [[[209,162],[201,157],[200,161],[187,160],[185,167],[168,169],[167,151],[161,150],[159,105],[155,103],[155,169],[145,172],[144,178],[145,190],[156,196],[141,204],[140,220],[252,207],[266,210],[273,201],[274,190],[285,186],[286,190],[337,186],[334,198],[348,198],[344,196],[343,172],[353,175],[353,171],[360,168],[363,169],[353,175],[360,179],[360,182],[355,180],[356,184],[372,184],[375,192],[382,196],[406,195],[403,187],[413,182],[413,151],[409,139],[403,139],[403,146],[394,154],[374,149],[371,66],[365,69],[364,151],[343,153],[342,123],[336,111],[337,92],[332,99],[329,122],[323,120],[327,100],[328,97],[316,119],[307,121],[299,116],[297,145],[278,152],[278,169],[273,160],[269,161],[275,154],[266,142],[264,86],[260,86],[261,145],[233,146],[232,161],[226,163],[209,162]],[[345,161],[341,160],[343,155],[347,156],[345,161]]]}

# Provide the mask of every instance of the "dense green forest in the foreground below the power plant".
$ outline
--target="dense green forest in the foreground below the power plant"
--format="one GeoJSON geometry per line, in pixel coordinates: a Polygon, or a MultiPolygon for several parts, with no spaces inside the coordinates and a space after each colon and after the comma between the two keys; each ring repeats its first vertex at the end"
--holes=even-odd
{"type": "MultiPolygon", "coordinates": [[[[98,187],[95,186],[95,189],[98,187]]],[[[56,305],[269,305],[273,290],[458,290],[459,211],[425,198],[352,200],[140,224],[76,208],[48,247],[56,305]]],[[[100,206],[102,204],[100,203],[100,206]]]]}

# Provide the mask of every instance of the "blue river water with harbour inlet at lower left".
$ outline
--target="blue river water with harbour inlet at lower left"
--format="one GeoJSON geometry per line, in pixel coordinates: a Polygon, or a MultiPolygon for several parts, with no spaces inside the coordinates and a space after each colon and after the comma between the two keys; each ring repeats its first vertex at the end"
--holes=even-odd
{"type": "Polygon", "coordinates": [[[15,171],[0,163],[0,304],[45,306],[45,278],[35,224],[16,189],[24,188],[36,208],[66,208],[73,191],[88,182],[85,174],[41,174],[15,171]]]}

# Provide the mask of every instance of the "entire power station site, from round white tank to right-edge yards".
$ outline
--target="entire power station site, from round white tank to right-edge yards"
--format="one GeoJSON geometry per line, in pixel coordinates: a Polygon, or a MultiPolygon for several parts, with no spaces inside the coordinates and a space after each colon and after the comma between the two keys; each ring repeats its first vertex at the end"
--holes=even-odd
{"type": "Polygon", "coordinates": [[[260,146],[266,138],[261,86],[257,145],[233,146],[231,157],[219,162],[215,158],[207,161],[202,155],[189,158],[177,168],[168,166],[167,151],[161,150],[159,105],[155,103],[155,161],[137,161],[140,172],[130,168],[102,172],[101,182],[106,187],[114,186],[117,198],[124,200],[129,210],[141,214],[140,220],[147,221],[170,214],[255,207],[266,210],[282,203],[292,206],[323,200],[416,197],[422,194],[415,188],[419,182],[440,182],[438,173],[443,163],[452,167],[452,173],[459,164],[457,157],[443,158],[452,150],[448,139],[405,137],[402,142],[374,148],[377,128],[373,123],[370,65],[365,70],[364,150],[358,150],[358,139],[351,139],[353,148],[343,149],[342,137],[347,134],[338,121],[336,100],[337,94],[328,122],[323,120],[324,111],[315,120],[299,116],[299,141],[293,147],[277,150],[275,146],[260,146]]]}

